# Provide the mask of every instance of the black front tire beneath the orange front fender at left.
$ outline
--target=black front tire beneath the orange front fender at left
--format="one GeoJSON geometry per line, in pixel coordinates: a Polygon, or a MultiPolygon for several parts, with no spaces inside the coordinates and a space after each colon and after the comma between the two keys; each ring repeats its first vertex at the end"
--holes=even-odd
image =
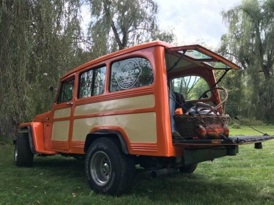
{"type": "Polygon", "coordinates": [[[16,166],[31,166],[33,153],[30,150],[28,134],[20,133],[14,149],[14,162],[16,166]]]}

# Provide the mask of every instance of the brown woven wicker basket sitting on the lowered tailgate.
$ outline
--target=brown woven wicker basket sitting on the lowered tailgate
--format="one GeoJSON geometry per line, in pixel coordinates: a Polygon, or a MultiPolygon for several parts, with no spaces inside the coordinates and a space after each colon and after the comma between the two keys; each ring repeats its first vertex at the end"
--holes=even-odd
{"type": "Polygon", "coordinates": [[[229,121],[229,115],[218,115],[218,117],[216,115],[175,115],[173,118],[179,133],[185,139],[195,137],[197,134],[196,130],[199,125],[204,126],[204,123],[206,123],[208,125],[220,124],[220,126],[223,126],[228,125],[229,121]]]}

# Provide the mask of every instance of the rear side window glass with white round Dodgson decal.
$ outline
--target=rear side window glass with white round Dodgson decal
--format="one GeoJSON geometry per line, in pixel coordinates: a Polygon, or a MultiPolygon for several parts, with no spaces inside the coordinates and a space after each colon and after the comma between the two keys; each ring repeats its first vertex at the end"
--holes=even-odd
{"type": "Polygon", "coordinates": [[[144,58],[131,58],[112,63],[111,92],[151,85],[153,80],[152,66],[144,58]]]}

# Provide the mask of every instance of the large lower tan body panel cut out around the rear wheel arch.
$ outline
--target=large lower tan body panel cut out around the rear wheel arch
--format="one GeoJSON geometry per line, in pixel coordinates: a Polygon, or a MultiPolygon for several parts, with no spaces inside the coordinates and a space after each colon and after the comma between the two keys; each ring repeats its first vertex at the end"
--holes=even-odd
{"type": "Polygon", "coordinates": [[[156,113],[135,113],[76,119],[73,123],[72,141],[85,141],[96,126],[120,126],[131,143],[156,143],[156,113]]]}

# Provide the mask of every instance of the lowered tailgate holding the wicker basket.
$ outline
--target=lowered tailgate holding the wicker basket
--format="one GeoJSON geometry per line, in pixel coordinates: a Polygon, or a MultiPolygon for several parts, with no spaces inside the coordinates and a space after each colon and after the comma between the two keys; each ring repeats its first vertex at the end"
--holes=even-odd
{"type": "Polygon", "coordinates": [[[274,140],[274,135],[271,136],[233,136],[228,137],[228,139],[206,139],[206,140],[183,140],[183,139],[173,139],[174,145],[179,144],[191,144],[191,145],[237,145],[237,144],[249,144],[249,143],[261,143],[268,140],[274,140]]]}

